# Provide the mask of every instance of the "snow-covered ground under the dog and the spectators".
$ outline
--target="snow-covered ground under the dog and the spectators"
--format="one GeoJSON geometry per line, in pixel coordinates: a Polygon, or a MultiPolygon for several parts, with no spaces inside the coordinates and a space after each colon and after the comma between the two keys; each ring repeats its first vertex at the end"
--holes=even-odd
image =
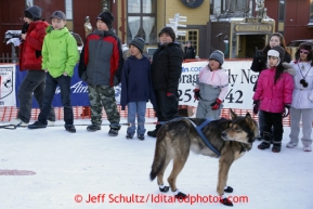
{"type": "MultiPolygon", "coordinates": [[[[210,203],[217,199],[216,158],[191,154],[177,182],[190,199],[169,203],[172,193],[159,193],[156,180],[148,179],[155,139],[126,140],[127,126],[114,138],[107,135],[108,126],[93,133],[86,131],[86,126],[77,126],[77,133],[68,133],[63,121],[57,125],[40,130],[0,129],[0,173],[36,173],[0,175],[0,208],[227,208],[210,203]],[[132,203],[122,203],[129,200],[132,203]]],[[[146,125],[146,129],[154,126],[146,125]]],[[[296,148],[287,148],[289,131],[285,128],[279,154],[260,151],[260,142],[256,142],[233,164],[229,185],[234,187],[230,195],[237,201],[235,208],[313,208],[313,154],[303,152],[301,142],[296,148]]],[[[165,180],[170,170],[171,165],[165,180]]]]}

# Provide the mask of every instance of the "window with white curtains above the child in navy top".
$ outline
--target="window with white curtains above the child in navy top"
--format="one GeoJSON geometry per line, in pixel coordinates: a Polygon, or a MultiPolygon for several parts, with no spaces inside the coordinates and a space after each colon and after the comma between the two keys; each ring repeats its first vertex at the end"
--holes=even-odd
{"type": "Polygon", "coordinates": [[[127,41],[141,37],[156,44],[156,0],[128,0],[127,41]]]}

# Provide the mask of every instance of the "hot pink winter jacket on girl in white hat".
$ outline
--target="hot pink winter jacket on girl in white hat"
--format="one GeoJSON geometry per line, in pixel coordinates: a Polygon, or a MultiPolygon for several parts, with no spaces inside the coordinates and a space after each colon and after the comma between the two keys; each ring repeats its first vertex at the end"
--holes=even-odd
{"type": "Polygon", "coordinates": [[[257,90],[253,100],[260,101],[260,110],[269,113],[283,113],[285,104],[291,104],[292,91],[295,88],[294,78],[295,69],[291,65],[284,63],[284,73],[281,75],[276,83],[276,67],[264,69],[258,80],[257,90]]]}

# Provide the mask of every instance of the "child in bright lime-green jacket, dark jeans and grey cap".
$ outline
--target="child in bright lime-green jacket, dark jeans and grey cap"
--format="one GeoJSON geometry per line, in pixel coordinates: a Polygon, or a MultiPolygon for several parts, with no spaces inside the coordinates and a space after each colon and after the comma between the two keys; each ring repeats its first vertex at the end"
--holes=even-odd
{"type": "Polygon", "coordinates": [[[47,127],[50,107],[58,84],[64,107],[65,129],[75,133],[74,114],[70,104],[70,78],[79,60],[77,43],[65,27],[66,16],[62,11],[53,12],[50,18],[52,26],[47,28],[47,36],[42,47],[42,69],[47,73],[42,109],[38,116],[38,121],[29,125],[28,128],[39,129],[47,127]]]}

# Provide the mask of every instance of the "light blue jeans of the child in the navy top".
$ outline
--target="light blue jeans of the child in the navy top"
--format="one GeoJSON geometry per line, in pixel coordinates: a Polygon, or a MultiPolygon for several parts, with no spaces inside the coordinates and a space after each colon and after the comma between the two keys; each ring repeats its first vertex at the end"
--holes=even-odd
{"type": "Polygon", "coordinates": [[[127,129],[127,133],[133,135],[135,133],[135,115],[138,115],[138,134],[145,133],[145,110],[146,110],[146,102],[130,102],[128,105],[128,122],[130,127],[127,129]]]}

